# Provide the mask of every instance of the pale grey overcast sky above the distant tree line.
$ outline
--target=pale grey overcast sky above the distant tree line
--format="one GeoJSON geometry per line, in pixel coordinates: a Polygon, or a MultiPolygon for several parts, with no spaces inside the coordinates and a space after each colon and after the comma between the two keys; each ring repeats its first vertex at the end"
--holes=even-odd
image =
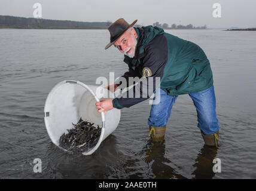
{"type": "Polygon", "coordinates": [[[42,19],[115,21],[151,25],[193,24],[208,28],[256,27],[256,0],[0,0],[0,15],[33,17],[33,4],[42,5],[42,19]],[[221,4],[221,18],[214,18],[215,3],[221,4]]]}

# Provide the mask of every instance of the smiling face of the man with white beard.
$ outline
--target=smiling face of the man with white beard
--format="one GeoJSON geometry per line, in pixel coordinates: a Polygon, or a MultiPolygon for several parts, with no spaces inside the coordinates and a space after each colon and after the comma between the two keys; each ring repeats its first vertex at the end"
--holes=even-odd
{"type": "Polygon", "coordinates": [[[129,29],[117,41],[115,41],[114,46],[115,48],[118,48],[121,53],[132,58],[135,55],[137,37],[138,35],[135,29],[129,29]]]}

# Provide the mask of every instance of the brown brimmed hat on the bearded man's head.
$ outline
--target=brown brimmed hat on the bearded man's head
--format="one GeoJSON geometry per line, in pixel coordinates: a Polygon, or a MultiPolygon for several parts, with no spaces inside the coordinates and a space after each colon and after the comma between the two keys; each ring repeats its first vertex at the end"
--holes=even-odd
{"type": "Polygon", "coordinates": [[[110,42],[106,45],[105,50],[111,47],[130,27],[132,27],[137,20],[133,21],[132,24],[129,24],[123,18],[116,20],[111,26],[108,27],[110,33],[110,42]]]}

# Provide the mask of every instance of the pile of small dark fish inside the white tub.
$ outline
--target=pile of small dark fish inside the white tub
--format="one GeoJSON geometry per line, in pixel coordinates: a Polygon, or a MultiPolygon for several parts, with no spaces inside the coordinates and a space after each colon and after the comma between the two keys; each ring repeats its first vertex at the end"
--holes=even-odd
{"type": "Polygon", "coordinates": [[[99,140],[101,128],[99,125],[94,127],[92,123],[83,121],[82,118],[73,124],[74,128],[68,130],[68,134],[63,133],[60,136],[59,146],[68,151],[84,152],[93,148],[99,140]]]}

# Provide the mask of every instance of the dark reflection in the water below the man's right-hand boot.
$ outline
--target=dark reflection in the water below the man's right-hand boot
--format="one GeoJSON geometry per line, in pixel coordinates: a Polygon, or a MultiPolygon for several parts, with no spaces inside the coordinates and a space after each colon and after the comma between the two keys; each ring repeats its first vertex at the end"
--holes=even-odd
{"type": "Polygon", "coordinates": [[[193,178],[206,178],[211,179],[214,177],[215,173],[212,171],[212,167],[214,164],[212,161],[214,160],[215,156],[217,155],[217,148],[216,147],[209,147],[204,145],[197,155],[195,159],[195,164],[193,167],[196,169],[192,172],[194,175],[193,178]]]}

